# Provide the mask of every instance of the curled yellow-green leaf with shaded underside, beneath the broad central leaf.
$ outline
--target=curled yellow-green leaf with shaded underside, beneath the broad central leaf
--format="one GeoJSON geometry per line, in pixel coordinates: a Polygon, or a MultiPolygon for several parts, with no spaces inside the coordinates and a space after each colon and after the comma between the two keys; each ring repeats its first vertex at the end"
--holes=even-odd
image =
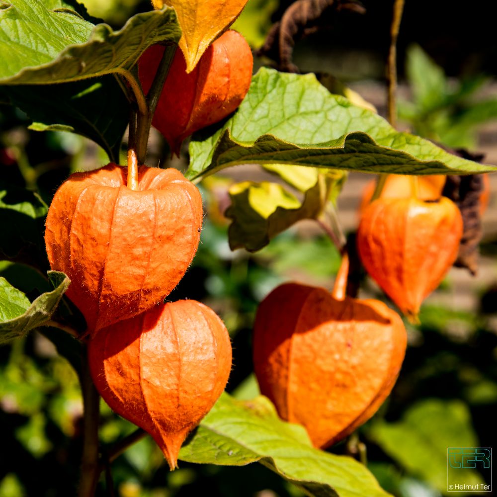
{"type": "Polygon", "coordinates": [[[297,221],[316,219],[326,192],[324,178],[316,178],[302,202],[277,183],[244,181],[233,185],[229,190],[231,205],[224,214],[233,221],[228,230],[230,248],[255,252],[297,221]]]}

